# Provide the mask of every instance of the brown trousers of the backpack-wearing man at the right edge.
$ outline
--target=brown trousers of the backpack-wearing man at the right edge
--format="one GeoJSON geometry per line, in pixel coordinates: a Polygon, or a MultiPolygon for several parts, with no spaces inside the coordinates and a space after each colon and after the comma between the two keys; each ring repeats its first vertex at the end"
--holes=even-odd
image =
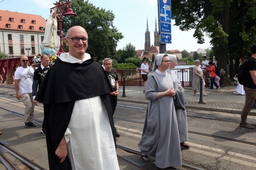
{"type": "Polygon", "coordinates": [[[253,103],[256,102],[256,89],[251,89],[244,86],[245,91],[245,104],[241,113],[241,124],[245,124],[247,121],[248,113],[252,110],[253,103]]]}

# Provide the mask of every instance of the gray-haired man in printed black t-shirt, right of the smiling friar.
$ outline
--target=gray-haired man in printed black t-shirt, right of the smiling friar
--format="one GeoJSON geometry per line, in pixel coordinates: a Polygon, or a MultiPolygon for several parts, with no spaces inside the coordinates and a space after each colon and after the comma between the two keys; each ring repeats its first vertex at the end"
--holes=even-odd
{"type": "MultiPolygon", "coordinates": [[[[118,76],[115,71],[111,70],[112,60],[110,58],[105,58],[103,60],[103,65],[105,67],[105,72],[107,73],[110,84],[112,85],[114,92],[109,93],[110,103],[112,108],[112,114],[115,112],[116,104],[117,104],[117,95],[119,93],[119,84],[118,84],[118,76]]],[[[115,128],[115,137],[119,137],[120,134],[117,132],[115,128]]]]}

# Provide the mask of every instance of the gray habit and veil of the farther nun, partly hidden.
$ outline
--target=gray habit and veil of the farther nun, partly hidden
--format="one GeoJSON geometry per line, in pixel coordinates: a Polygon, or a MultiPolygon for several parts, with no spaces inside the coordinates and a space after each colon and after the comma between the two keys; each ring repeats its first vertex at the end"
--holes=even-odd
{"type": "MultiPolygon", "coordinates": [[[[174,60],[175,55],[168,54],[170,63],[174,60]]],[[[171,69],[166,70],[172,76],[173,86],[176,91],[176,95],[173,97],[174,106],[176,111],[176,117],[179,127],[180,143],[188,141],[187,133],[187,112],[185,110],[185,94],[184,89],[181,87],[175,72],[171,69]]]]}

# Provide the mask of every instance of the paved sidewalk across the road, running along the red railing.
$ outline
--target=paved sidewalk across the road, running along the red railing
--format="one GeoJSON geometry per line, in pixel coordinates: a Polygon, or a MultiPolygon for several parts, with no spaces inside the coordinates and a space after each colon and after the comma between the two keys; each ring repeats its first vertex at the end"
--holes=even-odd
{"type": "MultiPolygon", "coordinates": [[[[205,111],[216,111],[232,114],[241,114],[245,103],[245,95],[237,95],[233,92],[236,86],[225,86],[220,89],[205,89],[207,96],[203,96],[203,104],[199,104],[198,96],[194,96],[191,87],[184,87],[185,100],[187,109],[198,109],[205,111]]],[[[0,84],[0,94],[8,94],[15,96],[14,85],[0,84]]],[[[148,104],[148,100],[143,93],[143,87],[140,86],[126,86],[125,96],[123,95],[123,87],[119,87],[118,101],[148,104]]],[[[253,109],[249,115],[256,116],[256,110],[253,109]]]]}

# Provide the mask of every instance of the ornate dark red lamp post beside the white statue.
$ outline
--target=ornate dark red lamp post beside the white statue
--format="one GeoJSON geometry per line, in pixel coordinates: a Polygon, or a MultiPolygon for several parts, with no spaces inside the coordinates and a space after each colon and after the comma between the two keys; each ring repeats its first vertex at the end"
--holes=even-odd
{"type": "Polygon", "coordinates": [[[62,4],[62,3],[61,3],[61,0],[59,0],[58,5],[55,6],[55,7],[53,7],[53,8],[51,8],[51,11],[50,11],[50,13],[52,13],[52,10],[53,10],[54,8],[56,8],[56,9],[57,9],[57,11],[56,11],[56,12],[57,12],[57,16],[58,16],[58,18],[59,18],[59,25],[60,25],[60,43],[61,43],[61,45],[60,45],[60,50],[59,50],[58,54],[64,53],[64,51],[63,51],[63,46],[62,46],[62,20],[61,20],[61,18],[62,18],[62,16],[67,16],[67,17],[74,17],[74,16],[77,16],[77,14],[72,11],[72,9],[71,9],[71,4],[70,4],[70,3],[71,3],[71,2],[69,1],[69,2],[66,2],[66,3],[63,3],[63,4],[62,4]],[[68,5],[67,13],[63,14],[63,13],[65,12],[66,8],[67,8],[67,5],[68,5]]]}

